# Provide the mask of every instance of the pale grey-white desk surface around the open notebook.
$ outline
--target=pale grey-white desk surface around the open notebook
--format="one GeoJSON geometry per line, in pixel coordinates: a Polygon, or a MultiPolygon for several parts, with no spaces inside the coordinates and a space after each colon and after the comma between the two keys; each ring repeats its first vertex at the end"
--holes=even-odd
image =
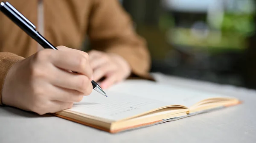
{"type": "Polygon", "coordinates": [[[255,143],[256,91],[153,74],[158,82],[225,93],[244,103],[211,113],[110,134],[61,118],[0,107],[0,143],[255,143]]]}

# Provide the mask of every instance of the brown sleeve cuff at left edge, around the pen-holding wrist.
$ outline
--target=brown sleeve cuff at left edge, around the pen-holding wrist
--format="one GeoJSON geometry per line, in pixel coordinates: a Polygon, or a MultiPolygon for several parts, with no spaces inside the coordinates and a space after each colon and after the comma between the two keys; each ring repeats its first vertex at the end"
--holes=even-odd
{"type": "Polygon", "coordinates": [[[17,56],[14,53],[0,52],[0,105],[2,104],[2,91],[5,77],[12,67],[13,64],[19,60],[24,59],[23,57],[17,56]]]}

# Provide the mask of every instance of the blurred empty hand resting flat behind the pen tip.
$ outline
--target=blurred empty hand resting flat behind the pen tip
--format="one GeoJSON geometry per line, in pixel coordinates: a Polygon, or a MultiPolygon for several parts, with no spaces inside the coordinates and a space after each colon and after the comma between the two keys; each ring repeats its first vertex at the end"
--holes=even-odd
{"type": "Polygon", "coordinates": [[[88,54],[93,68],[93,80],[97,82],[105,77],[105,80],[100,84],[102,89],[126,79],[131,74],[129,64],[117,54],[103,53],[96,50],[92,50],[88,54]]]}

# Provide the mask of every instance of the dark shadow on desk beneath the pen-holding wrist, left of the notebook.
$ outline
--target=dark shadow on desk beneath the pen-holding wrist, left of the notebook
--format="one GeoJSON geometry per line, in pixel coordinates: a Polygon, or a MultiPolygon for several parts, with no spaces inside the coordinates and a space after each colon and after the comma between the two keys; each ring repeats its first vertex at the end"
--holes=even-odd
{"type": "Polygon", "coordinates": [[[15,107],[0,107],[2,112],[8,114],[9,116],[20,116],[20,117],[27,117],[27,118],[44,118],[44,117],[52,117],[52,115],[45,114],[39,115],[35,112],[24,111],[15,107]]]}

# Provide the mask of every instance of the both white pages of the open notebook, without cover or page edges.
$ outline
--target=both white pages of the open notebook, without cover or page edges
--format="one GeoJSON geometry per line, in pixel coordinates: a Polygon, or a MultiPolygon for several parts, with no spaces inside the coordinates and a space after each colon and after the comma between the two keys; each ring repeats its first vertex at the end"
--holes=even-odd
{"type": "Polygon", "coordinates": [[[108,97],[93,90],[69,110],[116,121],[164,106],[191,107],[207,98],[227,97],[144,80],[127,80],[105,92],[108,97]]]}

